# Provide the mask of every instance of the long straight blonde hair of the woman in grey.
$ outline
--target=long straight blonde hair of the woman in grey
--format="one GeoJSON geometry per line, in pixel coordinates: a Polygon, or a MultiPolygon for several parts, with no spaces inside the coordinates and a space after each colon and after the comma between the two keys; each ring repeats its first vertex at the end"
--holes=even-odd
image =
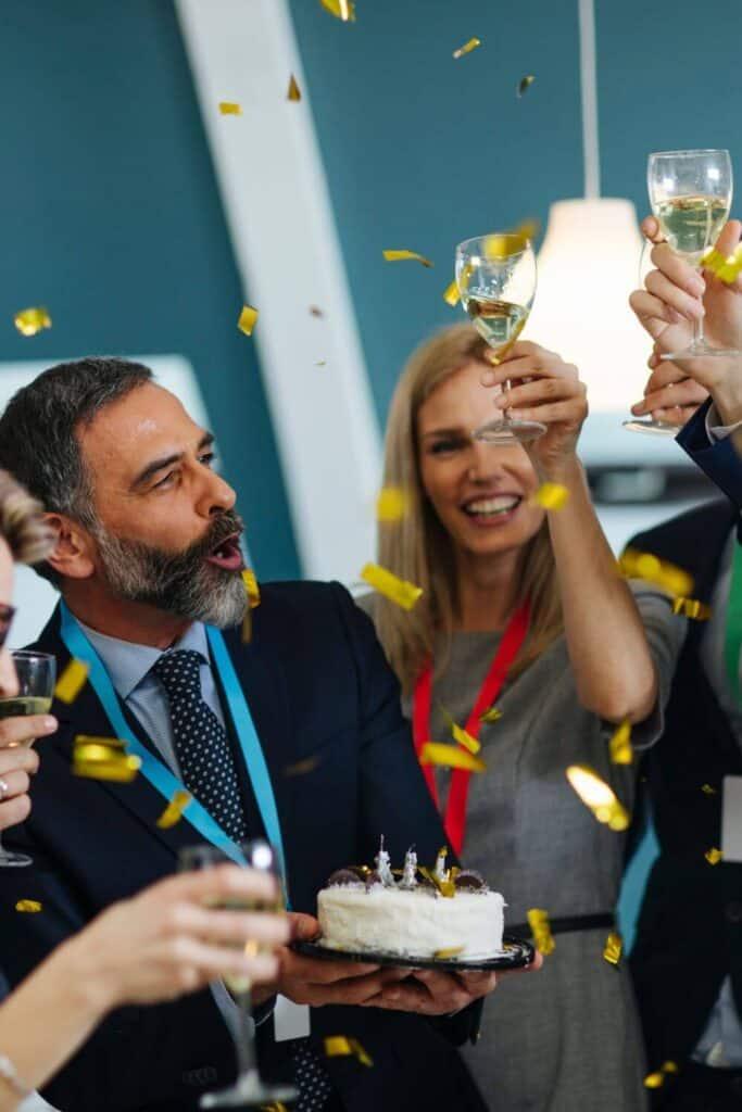
{"type": "MultiPolygon", "coordinates": [[[[458,613],[454,544],[425,495],[419,474],[417,415],[433,391],[467,363],[487,363],[485,341],[467,324],[435,334],[410,356],[392,399],[384,458],[385,487],[400,487],[407,508],[400,522],[379,525],[378,559],[423,588],[413,610],[376,599],[376,626],[387,659],[408,693],[437,648],[444,668],[458,613]],[[443,645],[441,642],[443,641],[443,645]],[[443,652],[441,649],[443,648],[443,652]]],[[[531,600],[528,636],[509,675],[524,671],[563,631],[562,606],[548,528],[544,522],[521,562],[516,605],[531,600]]]]}

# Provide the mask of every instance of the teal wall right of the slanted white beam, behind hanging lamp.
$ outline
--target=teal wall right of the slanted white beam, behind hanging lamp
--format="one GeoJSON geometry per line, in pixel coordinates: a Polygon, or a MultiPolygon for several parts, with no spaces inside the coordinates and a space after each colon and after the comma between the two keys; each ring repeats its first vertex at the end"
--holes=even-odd
{"type": "MultiPolygon", "coordinates": [[[[457,319],[441,300],[456,242],[582,190],[577,0],[356,0],[353,24],[290,3],[383,418],[410,348],[457,319]],[[385,264],[386,247],[436,267],[385,264]]],[[[662,148],[729,147],[742,176],[740,0],[595,4],[603,192],[644,214],[662,148]]]]}

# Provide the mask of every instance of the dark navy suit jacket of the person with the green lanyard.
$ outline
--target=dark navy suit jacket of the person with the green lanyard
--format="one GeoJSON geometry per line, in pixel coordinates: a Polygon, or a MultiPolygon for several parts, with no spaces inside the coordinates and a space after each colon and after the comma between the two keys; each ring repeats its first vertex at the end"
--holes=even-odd
{"type": "MultiPolygon", "coordinates": [[[[742,505],[742,461],[729,439],[709,444],[709,405],[677,441],[733,505],[708,503],[630,542],[690,572],[693,596],[704,603],[742,505]]],[[[742,751],[703,668],[706,628],[689,623],[665,731],[643,762],[660,856],[642,903],[632,972],[651,1070],[692,1054],[728,975],[742,1014],[742,865],[712,866],[704,856],[721,845],[722,781],[742,775],[742,751]]]]}

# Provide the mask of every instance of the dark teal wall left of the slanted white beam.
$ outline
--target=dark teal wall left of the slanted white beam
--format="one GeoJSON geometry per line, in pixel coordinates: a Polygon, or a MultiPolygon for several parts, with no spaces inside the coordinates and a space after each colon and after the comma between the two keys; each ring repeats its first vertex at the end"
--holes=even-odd
{"type": "MultiPolygon", "coordinates": [[[[181,353],[264,577],[298,574],[253,340],[166,0],[2,0],[0,360],[181,353]],[[17,309],[51,331],[21,338],[17,309]]],[[[216,106],[215,106],[216,107],[216,106]]]]}

